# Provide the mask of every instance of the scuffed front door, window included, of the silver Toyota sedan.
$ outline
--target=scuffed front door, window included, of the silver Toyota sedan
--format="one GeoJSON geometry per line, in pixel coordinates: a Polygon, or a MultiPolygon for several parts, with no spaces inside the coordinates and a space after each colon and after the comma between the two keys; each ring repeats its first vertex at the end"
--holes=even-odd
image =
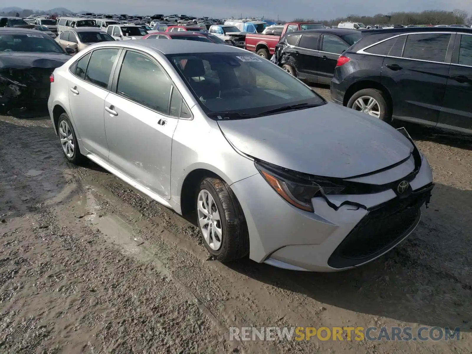
{"type": "Polygon", "coordinates": [[[127,51],[116,90],[103,108],[110,164],[168,200],[178,122],[178,115],[169,112],[171,91],[169,78],[154,59],[127,51]]]}

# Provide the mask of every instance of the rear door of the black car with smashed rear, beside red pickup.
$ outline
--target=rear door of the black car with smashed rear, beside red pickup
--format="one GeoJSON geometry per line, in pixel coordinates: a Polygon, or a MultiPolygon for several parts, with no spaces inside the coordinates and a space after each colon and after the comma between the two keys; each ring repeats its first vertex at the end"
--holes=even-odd
{"type": "Polygon", "coordinates": [[[310,82],[318,82],[317,67],[319,59],[318,44],[320,42],[320,34],[302,34],[300,41],[295,47],[295,55],[297,60],[297,72],[301,79],[310,82]]]}

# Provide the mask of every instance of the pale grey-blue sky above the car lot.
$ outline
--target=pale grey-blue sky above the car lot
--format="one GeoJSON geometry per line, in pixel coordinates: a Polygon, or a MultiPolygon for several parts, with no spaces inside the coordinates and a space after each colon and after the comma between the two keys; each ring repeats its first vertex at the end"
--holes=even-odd
{"type": "Polygon", "coordinates": [[[349,14],[375,15],[397,11],[460,8],[472,14],[472,0],[15,0],[2,7],[17,6],[48,10],[64,7],[71,11],[125,13],[128,15],[185,14],[209,17],[261,17],[291,20],[295,17],[331,19],[349,14]],[[267,6],[263,5],[267,4],[267,6]],[[270,5],[269,5],[270,4],[270,5]]]}

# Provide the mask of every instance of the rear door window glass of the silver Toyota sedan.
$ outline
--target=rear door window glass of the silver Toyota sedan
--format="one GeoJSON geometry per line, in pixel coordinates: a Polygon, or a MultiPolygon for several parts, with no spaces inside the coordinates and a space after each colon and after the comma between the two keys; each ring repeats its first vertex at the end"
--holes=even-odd
{"type": "Polygon", "coordinates": [[[108,87],[111,69],[118,57],[118,49],[98,49],[92,52],[85,80],[102,88],[108,87]]]}

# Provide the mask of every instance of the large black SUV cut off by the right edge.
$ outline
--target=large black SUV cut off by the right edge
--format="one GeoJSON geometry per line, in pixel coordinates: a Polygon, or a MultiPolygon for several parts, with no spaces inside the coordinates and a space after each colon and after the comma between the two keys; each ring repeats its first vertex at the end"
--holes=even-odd
{"type": "Polygon", "coordinates": [[[387,122],[472,134],[472,29],[363,31],[337,61],[331,97],[387,122]]]}

